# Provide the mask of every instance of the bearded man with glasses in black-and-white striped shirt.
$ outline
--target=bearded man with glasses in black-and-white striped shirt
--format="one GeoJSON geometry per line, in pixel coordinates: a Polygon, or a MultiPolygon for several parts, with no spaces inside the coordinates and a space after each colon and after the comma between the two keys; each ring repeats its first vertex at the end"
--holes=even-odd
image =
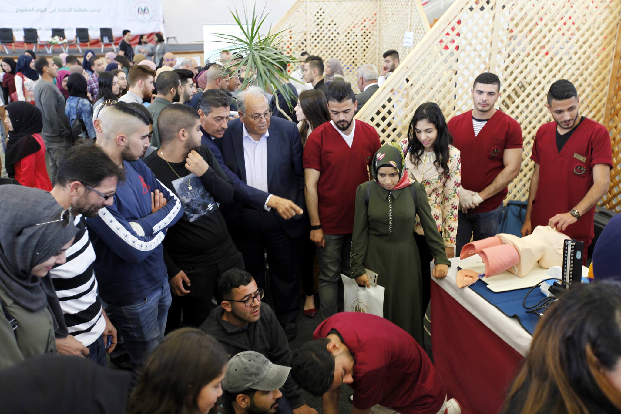
{"type": "Polygon", "coordinates": [[[66,251],[66,262],[50,271],[69,333],[65,338],[56,338],[58,353],[87,356],[101,366],[107,366],[106,351],[109,354],[114,350],[117,331],[97,294],[95,251],[86,230],[86,217],[97,217],[100,209],[112,205],[117,184],[124,178],[122,168],[101,148],[76,145],[61,158],[56,184],[50,191],[63,209],[71,209],[78,228],[66,251]]]}

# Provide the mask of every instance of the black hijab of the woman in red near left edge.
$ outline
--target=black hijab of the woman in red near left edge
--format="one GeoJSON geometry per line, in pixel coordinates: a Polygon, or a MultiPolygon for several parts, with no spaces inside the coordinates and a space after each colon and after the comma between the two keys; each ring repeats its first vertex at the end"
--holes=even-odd
{"type": "Polygon", "coordinates": [[[6,143],[6,172],[10,178],[15,175],[14,164],[34,154],[41,149],[41,145],[32,135],[41,133],[43,117],[41,110],[25,101],[11,102],[6,107],[13,127],[9,131],[9,140],[6,143]]]}

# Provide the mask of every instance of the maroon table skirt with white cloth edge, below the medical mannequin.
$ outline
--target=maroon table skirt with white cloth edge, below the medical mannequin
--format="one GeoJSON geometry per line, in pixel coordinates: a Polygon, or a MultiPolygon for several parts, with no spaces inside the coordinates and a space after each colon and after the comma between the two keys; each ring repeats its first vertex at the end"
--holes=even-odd
{"type": "Polygon", "coordinates": [[[463,414],[498,413],[532,336],[517,318],[505,316],[469,287],[457,287],[461,260],[450,261],[444,279],[432,277],[433,364],[463,414]]]}

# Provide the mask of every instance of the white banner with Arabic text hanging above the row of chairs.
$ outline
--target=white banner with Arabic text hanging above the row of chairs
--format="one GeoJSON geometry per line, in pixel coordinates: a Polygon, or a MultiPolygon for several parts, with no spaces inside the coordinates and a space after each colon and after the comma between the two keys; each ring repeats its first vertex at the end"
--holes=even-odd
{"type": "Polygon", "coordinates": [[[0,27],[11,27],[17,42],[24,40],[24,27],[37,29],[42,42],[52,28],[65,29],[73,40],[76,27],[88,27],[91,39],[100,27],[111,27],[114,37],[125,29],[132,35],[164,32],[161,0],[21,0],[0,1],[0,27]]]}

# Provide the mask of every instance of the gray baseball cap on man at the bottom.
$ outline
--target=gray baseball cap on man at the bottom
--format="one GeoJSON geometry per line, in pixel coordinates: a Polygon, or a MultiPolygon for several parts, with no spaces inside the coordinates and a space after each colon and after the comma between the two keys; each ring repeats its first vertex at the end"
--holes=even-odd
{"type": "Polygon", "coordinates": [[[263,354],[255,351],[240,352],[229,361],[222,381],[222,389],[240,392],[247,389],[271,391],[284,385],[290,367],[272,364],[263,354]]]}

